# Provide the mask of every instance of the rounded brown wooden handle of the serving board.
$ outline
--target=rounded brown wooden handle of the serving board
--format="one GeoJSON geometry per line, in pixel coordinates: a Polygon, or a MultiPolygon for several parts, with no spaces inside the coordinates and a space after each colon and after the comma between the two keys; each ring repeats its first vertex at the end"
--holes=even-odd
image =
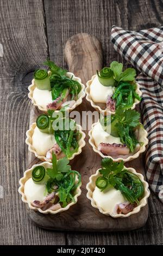
{"type": "Polygon", "coordinates": [[[90,34],[73,35],[66,42],[64,49],[68,70],[80,77],[85,84],[101,70],[103,65],[102,46],[99,40],[90,34]]]}

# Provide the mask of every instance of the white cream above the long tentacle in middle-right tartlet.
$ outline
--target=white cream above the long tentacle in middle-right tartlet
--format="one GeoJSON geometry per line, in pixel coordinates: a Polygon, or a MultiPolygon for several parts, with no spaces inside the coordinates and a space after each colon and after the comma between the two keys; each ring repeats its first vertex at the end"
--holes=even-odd
{"type": "Polygon", "coordinates": [[[109,143],[109,144],[112,144],[112,143],[122,144],[119,137],[111,136],[108,132],[105,132],[102,129],[102,126],[100,123],[97,123],[95,126],[93,126],[92,137],[96,147],[98,147],[98,145],[102,142],[109,143]]]}

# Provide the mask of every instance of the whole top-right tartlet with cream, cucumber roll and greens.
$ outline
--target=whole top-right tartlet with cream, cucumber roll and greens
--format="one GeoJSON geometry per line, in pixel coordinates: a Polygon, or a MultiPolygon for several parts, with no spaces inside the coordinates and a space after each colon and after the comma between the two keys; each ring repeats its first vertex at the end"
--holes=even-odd
{"type": "Polygon", "coordinates": [[[98,112],[114,114],[118,106],[134,109],[140,102],[142,93],[135,81],[136,71],[122,68],[122,63],[112,62],[87,81],[86,100],[98,112]]]}

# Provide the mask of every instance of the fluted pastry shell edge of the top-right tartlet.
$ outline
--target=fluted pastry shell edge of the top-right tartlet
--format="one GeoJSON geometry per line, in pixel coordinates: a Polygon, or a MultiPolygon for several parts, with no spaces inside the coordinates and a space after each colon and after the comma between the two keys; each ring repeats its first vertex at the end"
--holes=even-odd
{"type": "MultiPolygon", "coordinates": [[[[91,106],[93,108],[95,108],[98,112],[101,112],[102,114],[115,114],[115,112],[112,112],[112,111],[109,111],[109,110],[106,110],[106,109],[102,109],[101,107],[99,107],[98,105],[96,105],[95,102],[93,102],[92,100],[92,97],[90,95],[90,85],[93,81],[93,79],[96,77],[96,75],[93,75],[91,80],[87,81],[86,82],[86,88],[85,88],[85,93],[86,93],[86,100],[89,101],[91,103],[91,106]]],[[[139,86],[139,83],[136,82],[136,93],[141,97],[142,95],[142,92],[140,90],[140,86],[139,86]]],[[[131,107],[131,109],[134,109],[136,107],[137,104],[139,104],[139,100],[135,99],[135,102],[133,104],[133,107],[131,107]]]]}

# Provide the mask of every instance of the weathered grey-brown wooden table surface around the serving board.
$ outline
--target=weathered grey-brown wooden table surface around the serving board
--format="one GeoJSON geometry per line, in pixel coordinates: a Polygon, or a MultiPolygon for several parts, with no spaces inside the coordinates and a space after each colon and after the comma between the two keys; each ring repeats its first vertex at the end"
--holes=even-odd
{"type": "Polygon", "coordinates": [[[161,0],[0,0],[0,244],[163,245],[163,205],[151,194],[145,227],[114,233],[48,231],[28,219],[18,194],[26,170],[33,71],[50,57],[66,68],[63,49],[70,36],[86,32],[102,42],[104,65],[121,60],[110,43],[112,25],[130,30],[160,26],[161,0]]]}

